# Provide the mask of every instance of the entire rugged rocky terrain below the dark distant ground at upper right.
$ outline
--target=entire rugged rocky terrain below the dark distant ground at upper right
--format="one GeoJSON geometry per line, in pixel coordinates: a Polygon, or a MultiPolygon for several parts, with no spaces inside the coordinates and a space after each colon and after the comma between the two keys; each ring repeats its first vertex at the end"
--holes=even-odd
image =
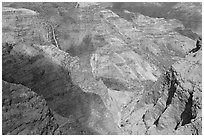
{"type": "Polygon", "coordinates": [[[189,54],[185,23],[31,5],[2,11],[3,134],[202,134],[202,49],[189,54]]]}

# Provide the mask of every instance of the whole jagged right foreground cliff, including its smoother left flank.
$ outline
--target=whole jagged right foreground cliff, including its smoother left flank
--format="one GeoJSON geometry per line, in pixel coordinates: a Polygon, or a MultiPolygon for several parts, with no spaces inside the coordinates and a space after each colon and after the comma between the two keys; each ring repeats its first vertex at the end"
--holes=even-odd
{"type": "Polygon", "coordinates": [[[189,54],[175,63],[135,104],[124,119],[124,131],[131,134],[202,134],[201,54],[202,51],[189,54]]]}

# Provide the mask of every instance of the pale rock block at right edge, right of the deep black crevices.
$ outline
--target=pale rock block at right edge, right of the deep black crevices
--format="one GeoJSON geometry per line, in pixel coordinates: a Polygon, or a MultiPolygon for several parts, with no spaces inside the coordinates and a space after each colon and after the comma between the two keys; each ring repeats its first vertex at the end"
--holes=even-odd
{"type": "Polygon", "coordinates": [[[188,94],[178,133],[202,134],[202,50],[177,62],[173,69],[180,87],[188,94]]]}

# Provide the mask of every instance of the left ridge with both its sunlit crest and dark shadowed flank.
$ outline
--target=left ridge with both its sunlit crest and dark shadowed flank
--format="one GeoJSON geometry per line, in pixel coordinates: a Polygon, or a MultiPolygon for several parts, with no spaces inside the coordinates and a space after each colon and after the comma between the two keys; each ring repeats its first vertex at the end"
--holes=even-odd
{"type": "MultiPolygon", "coordinates": [[[[23,20],[20,23],[26,22],[23,20]]],[[[32,26],[29,28],[32,29],[32,26]]],[[[29,44],[26,40],[17,43],[24,37],[14,35],[14,38],[14,44],[7,39],[3,43],[3,79],[21,83],[43,95],[52,110],[68,118],[60,123],[60,134],[119,132],[100,96],[86,93],[72,82],[70,71],[78,68],[77,58],[72,58],[54,45],[29,44]],[[61,130],[64,130],[63,133],[61,130]]]]}

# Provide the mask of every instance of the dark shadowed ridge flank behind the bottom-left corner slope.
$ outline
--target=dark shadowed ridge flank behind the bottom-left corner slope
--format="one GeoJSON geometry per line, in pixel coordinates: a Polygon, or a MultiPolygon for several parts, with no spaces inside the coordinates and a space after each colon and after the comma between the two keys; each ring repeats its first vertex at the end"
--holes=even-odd
{"type": "Polygon", "coordinates": [[[105,130],[104,134],[116,134],[114,131],[109,133],[109,129],[105,127],[106,123],[103,123],[104,120],[113,119],[101,97],[94,93],[83,92],[79,86],[73,84],[68,70],[44,57],[43,54],[31,57],[20,52],[4,53],[3,80],[30,88],[43,96],[48,106],[57,114],[68,119],[74,118],[74,122],[71,123],[64,121],[65,125],[62,128],[64,132],[65,129],[74,129],[70,131],[71,133],[69,130],[66,131],[65,134],[98,134],[97,130],[100,131],[101,128],[105,130]]]}

